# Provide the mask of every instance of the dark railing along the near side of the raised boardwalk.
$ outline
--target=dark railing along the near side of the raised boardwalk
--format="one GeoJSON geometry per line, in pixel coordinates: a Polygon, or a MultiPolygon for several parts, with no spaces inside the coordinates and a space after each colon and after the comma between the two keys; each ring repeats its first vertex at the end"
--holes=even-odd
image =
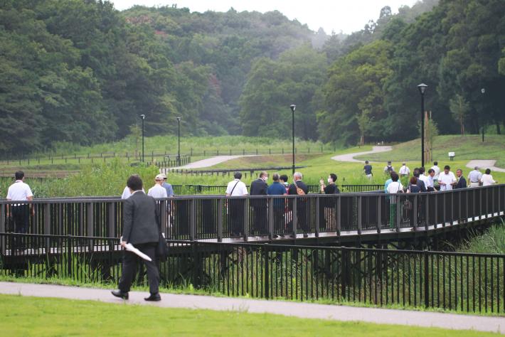
{"type": "MultiPolygon", "coordinates": [[[[503,217],[504,200],[505,185],[497,185],[395,195],[177,196],[158,204],[167,238],[223,241],[432,230],[503,217]]],[[[122,202],[107,197],[38,199],[17,210],[25,213],[30,234],[117,237],[122,231],[122,202]]],[[[0,200],[0,232],[20,232],[9,228],[7,205],[21,203],[0,200]]]]}

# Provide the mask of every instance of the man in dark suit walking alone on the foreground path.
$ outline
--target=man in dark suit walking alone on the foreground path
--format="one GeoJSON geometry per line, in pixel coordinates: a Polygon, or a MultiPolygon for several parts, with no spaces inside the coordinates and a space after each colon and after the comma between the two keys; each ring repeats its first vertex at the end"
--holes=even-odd
{"type": "MultiPolygon", "coordinates": [[[[154,198],[147,196],[142,191],[142,179],[139,176],[130,176],[127,186],[132,192],[132,196],[124,200],[124,225],[121,245],[124,247],[127,243],[131,243],[151,258],[151,261],[142,259],[147,268],[149,292],[151,293],[145,300],[161,301],[158,291],[159,272],[155,264],[156,245],[159,240],[159,210],[156,207],[154,198]]],[[[124,250],[123,271],[121,279],[119,279],[119,290],[112,291],[114,296],[128,299],[128,291],[137,273],[136,267],[139,258],[133,252],[124,250]]]]}

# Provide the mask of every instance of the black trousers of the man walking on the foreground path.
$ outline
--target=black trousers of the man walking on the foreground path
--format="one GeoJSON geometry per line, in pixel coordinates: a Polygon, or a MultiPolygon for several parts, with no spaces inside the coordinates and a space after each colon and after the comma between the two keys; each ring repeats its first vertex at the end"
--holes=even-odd
{"type": "Polygon", "coordinates": [[[132,287],[133,279],[137,274],[137,264],[139,264],[139,260],[144,262],[144,265],[147,268],[147,279],[149,280],[149,292],[151,294],[158,293],[159,289],[159,272],[158,267],[156,267],[156,245],[157,242],[149,242],[142,243],[138,245],[134,245],[145,255],[151,257],[152,261],[147,261],[139,257],[137,254],[128,252],[127,250],[123,251],[123,272],[121,274],[121,279],[119,279],[119,290],[123,292],[128,292],[132,287]]]}

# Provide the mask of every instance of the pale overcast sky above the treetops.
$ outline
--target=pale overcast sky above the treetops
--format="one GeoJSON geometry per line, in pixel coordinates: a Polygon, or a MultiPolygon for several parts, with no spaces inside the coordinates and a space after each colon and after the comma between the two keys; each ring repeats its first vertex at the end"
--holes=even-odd
{"type": "Polygon", "coordinates": [[[280,11],[289,19],[296,18],[313,31],[324,28],[331,31],[352,33],[359,31],[369,20],[376,20],[383,6],[390,6],[393,13],[398,7],[412,6],[417,0],[111,0],[119,10],[129,9],[138,4],[144,6],[188,7],[191,11],[280,11]]]}

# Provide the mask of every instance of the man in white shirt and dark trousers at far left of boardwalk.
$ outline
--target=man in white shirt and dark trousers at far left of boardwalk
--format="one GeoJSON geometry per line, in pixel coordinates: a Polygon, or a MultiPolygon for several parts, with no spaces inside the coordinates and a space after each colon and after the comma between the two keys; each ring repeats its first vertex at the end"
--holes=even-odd
{"type": "MultiPolygon", "coordinates": [[[[9,186],[9,191],[7,191],[7,200],[33,200],[31,188],[24,182],[25,173],[23,171],[17,171],[15,176],[16,182],[9,186]]],[[[7,205],[7,218],[10,218],[12,215],[12,220],[14,221],[14,232],[21,234],[26,234],[26,232],[28,232],[30,210],[31,215],[35,215],[32,205],[28,205],[27,203],[12,203],[11,205],[7,205]]],[[[14,237],[13,248],[21,250],[23,248],[22,239],[14,237]]]]}

